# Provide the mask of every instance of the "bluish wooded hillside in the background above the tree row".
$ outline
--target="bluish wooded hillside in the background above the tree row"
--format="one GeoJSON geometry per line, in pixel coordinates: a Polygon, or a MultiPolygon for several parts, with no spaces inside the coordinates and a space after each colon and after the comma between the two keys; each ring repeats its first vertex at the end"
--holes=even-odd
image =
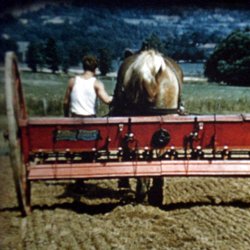
{"type": "Polygon", "coordinates": [[[120,57],[125,48],[139,49],[145,39],[152,38],[176,59],[202,60],[221,39],[247,26],[250,10],[242,8],[47,4],[3,15],[0,36],[1,40],[38,43],[53,37],[61,54],[96,54],[108,48],[113,58],[120,57]]]}

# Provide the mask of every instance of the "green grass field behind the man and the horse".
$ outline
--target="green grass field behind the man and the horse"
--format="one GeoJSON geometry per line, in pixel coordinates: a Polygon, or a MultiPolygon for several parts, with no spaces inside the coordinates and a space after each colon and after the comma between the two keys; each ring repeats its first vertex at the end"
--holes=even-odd
{"type": "MultiPolygon", "coordinates": [[[[21,79],[30,116],[62,116],[63,97],[72,75],[22,72],[21,79]]],[[[109,94],[113,94],[115,79],[100,78],[109,94]]],[[[185,82],[182,100],[188,113],[235,114],[250,112],[250,88],[217,83],[185,82]]],[[[108,107],[98,103],[98,115],[108,113],[108,107]]],[[[5,114],[4,74],[0,72],[0,114],[5,114]]]]}

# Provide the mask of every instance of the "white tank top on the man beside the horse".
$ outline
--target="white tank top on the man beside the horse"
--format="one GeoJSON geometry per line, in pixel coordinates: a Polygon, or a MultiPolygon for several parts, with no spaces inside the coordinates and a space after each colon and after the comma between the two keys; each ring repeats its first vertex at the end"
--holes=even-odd
{"type": "Polygon", "coordinates": [[[95,115],[96,92],[95,77],[88,80],[76,76],[70,95],[70,111],[77,115],[95,115]]]}

